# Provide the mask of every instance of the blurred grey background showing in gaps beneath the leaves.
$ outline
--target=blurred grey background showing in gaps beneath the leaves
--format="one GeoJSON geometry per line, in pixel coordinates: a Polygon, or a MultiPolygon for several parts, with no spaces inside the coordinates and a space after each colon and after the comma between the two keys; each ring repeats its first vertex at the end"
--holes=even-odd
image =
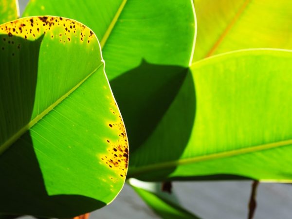
{"type": "MultiPolygon", "coordinates": [[[[20,15],[27,2],[19,0],[20,15]]],[[[202,219],[246,219],[251,185],[252,181],[174,182],[173,193],[185,209],[202,219]]],[[[260,183],[256,200],[255,219],[292,218],[292,185],[260,183]]],[[[159,219],[128,184],[109,206],[91,213],[90,218],[159,219]]]]}

